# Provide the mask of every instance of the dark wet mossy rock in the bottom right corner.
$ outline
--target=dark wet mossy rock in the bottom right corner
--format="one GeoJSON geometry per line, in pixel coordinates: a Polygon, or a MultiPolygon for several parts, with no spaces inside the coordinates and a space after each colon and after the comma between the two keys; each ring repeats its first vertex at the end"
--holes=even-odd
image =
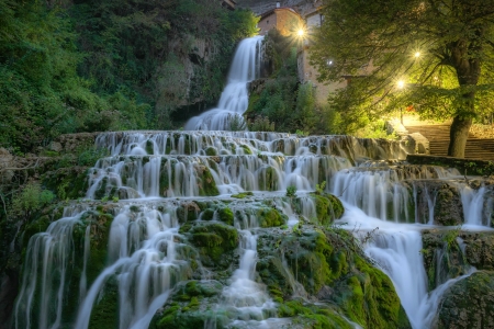
{"type": "Polygon", "coordinates": [[[494,272],[480,271],[452,285],[433,328],[494,328],[494,272]]]}

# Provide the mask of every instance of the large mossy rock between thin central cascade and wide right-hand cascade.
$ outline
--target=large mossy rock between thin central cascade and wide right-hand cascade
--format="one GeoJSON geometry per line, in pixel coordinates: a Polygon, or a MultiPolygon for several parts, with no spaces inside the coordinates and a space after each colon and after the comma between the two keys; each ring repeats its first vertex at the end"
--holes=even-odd
{"type": "Polygon", "coordinates": [[[258,273],[278,303],[305,293],[336,305],[364,328],[411,328],[391,280],[343,229],[300,225],[263,230],[258,252],[258,273]]]}

